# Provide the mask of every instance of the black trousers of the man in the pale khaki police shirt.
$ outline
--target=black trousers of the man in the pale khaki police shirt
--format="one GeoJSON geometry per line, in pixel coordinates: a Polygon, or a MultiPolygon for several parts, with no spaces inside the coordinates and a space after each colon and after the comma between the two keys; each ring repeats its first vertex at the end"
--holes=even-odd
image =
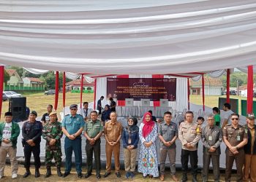
{"type": "Polygon", "coordinates": [[[188,170],[188,163],[190,160],[190,165],[192,169],[192,174],[197,175],[197,150],[196,151],[188,151],[181,149],[181,165],[182,165],[182,172],[187,173],[188,170]]]}

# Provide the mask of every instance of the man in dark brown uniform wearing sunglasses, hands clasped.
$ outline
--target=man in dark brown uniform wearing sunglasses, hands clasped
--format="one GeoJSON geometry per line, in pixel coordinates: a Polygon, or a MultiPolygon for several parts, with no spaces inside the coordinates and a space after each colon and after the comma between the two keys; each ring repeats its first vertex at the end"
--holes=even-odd
{"type": "Polygon", "coordinates": [[[244,165],[244,145],[247,143],[247,131],[239,122],[239,115],[233,113],[230,115],[231,124],[227,124],[223,128],[223,141],[226,149],[226,173],[225,181],[230,181],[231,170],[234,160],[236,161],[236,181],[243,179],[243,165],[244,165]]]}

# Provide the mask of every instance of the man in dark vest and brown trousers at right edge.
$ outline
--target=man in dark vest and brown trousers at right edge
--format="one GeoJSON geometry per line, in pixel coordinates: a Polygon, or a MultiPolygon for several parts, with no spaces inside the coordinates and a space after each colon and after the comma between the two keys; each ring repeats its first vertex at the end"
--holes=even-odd
{"type": "Polygon", "coordinates": [[[245,130],[248,133],[248,143],[244,146],[244,178],[243,181],[256,181],[256,142],[255,115],[246,116],[245,130]]]}

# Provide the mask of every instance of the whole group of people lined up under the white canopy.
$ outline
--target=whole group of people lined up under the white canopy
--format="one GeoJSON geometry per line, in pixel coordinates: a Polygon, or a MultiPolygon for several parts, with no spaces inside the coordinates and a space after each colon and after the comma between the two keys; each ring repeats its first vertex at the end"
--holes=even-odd
{"type": "MultiPolygon", "coordinates": [[[[193,122],[194,114],[187,111],[184,122],[178,126],[172,122],[170,111],[165,112],[161,123],[154,122],[150,112],[146,112],[143,121],[138,127],[138,119],[129,117],[127,126],[123,127],[117,121],[115,111],[110,112],[110,119],[103,125],[98,119],[97,111],[88,110],[88,103],[84,103],[83,111],[78,114],[78,105],[69,106],[70,114],[64,116],[62,123],[58,122],[57,113],[48,106],[48,113],[42,117],[42,122],[37,121],[37,112],[31,111],[27,122],[22,127],[22,144],[24,151],[24,167],[26,173],[23,178],[31,175],[30,161],[31,153],[34,156],[35,177],[39,177],[40,163],[40,142],[41,136],[45,139],[45,165],[47,172],[45,177],[51,175],[52,159],[54,158],[57,167],[57,174],[67,177],[72,168],[72,152],[75,154],[75,169],[78,178],[89,178],[92,174],[93,156],[96,170],[96,177],[101,178],[100,143],[104,133],[106,145],[106,170],[104,178],[111,174],[111,158],[114,156],[115,173],[121,178],[120,173],[120,145],[123,141],[125,177],[135,177],[135,166],[137,153],[139,155],[138,172],[143,178],[157,178],[165,180],[165,161],[167,156],[170,160],[170,175],[173,181],[176,177],[176,153],[181,154],[182,178],[180,181],[187,181],[188,162],[192,169],[192,181],[197,181],[197,147],[201,140],[203,143],[203,181],[208,181],[208,170],[212,162],[214,181],[219,181],[219,156],[222,140],[227,146],[226,149],[226,173],[225,181],[230,181],[233,161],[236,161],[236,181],[256,181],[256,143],[255,143],[255,116],[250,114],[246,117],[247,124],[238,124],[239,115],[230,113],[227,122],[220,127],[215,121],[215,115],[207,116],[207,124],[203,124],[203,117],[193,122]],[[87,104],[87,106],[86,106],[87,104]],[[44,121],[45,120],[45,121],[44,121]],[[230,123],[228,123],[230,121],[230,123]],[[203,126],[204,125],[204,126],[203,126]],[[81,142],[84,135],[86,138],[86,165],[87,173],[82,174],[82,149],[81,142]],[[65,170],[61,173],[61,137],[65,135],[64,152],[66,156],[65,170]],[[157,137],[160,140],[159,160],[157,159],[157,137]],[[176,151],[176,140],[181,141],[181,151],[176,151]],[[138,143],[140,141],[140,147],[138,143]],[[139,149],[138,149],[139,148],[139,149]],[[138,152],[139,151],[139,152],[138,152]],[[159,162],[158,162],[159,161],[159,162]],[[158,168],[160,165],[160,169],[158,168]],[[244,171],[243,171],[244,167],[244,171]]],[[[225,107],[230,106],[225,103],[225,107]]],[[[102,113],[103,114],[103,113],[102,113]]],[[[7,154],[10,156],[12,166],[12,178],[17,178],[18,162],[16,159],[17,139],[20,134],[20,127],[12,121],[12,113],[4,114],[5,122],[0,124],[0,178],[4,176],[4,166],[7,154]]]]}

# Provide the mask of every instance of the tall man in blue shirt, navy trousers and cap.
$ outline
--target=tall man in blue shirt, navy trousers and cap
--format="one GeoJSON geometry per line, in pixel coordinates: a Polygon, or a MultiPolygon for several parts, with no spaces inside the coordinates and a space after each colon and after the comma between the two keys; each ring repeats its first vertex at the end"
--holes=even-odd
{"type": "Polygon", "coordinates": [[[78,105],[72,104],[69,106],[70,114],[64,116],[62,120],[62,132],[66,135],[64,141],[64,149],[66,155],[65,162],[65,178],[70,174],[72,166],[72,151],[75,153],[75,168],[78,173],[78,178],[82,178],[82,149],[81,149],[81,133],[83,132],[84,120],[83,116],[77,114],[78,105]]]}

